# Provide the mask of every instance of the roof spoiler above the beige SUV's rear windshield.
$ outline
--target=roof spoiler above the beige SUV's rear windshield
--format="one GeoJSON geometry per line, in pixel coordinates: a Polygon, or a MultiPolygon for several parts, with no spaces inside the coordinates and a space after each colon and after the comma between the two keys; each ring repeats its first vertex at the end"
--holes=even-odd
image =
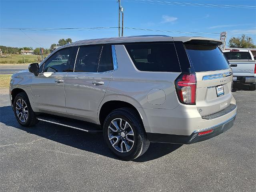
{"type": "Polygon", "coordinates": [[[182,41],[186,44],[200,44],[210,46],[219,46],[222,44],[222,41],[220,40],[204,37],[174,37],[173,41],[182,41]]]}

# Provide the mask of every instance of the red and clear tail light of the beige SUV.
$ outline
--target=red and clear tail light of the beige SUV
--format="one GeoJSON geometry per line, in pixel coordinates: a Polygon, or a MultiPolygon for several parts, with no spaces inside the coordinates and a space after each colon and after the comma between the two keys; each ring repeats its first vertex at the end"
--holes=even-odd
{"type": "Polygon", "coordinates": [[[175,86],[181,103],[196,104],[196,74],[180,74],[175,86]]]}

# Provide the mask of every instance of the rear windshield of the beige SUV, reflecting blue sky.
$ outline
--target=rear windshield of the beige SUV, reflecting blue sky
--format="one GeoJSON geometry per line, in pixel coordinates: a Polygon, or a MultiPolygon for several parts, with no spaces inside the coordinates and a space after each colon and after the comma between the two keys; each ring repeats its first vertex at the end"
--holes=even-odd
{"type": "Polygon", "coordinates": [[[217,46],[184,44],[195,72],[216,71],[230,68],[217,46]]]}

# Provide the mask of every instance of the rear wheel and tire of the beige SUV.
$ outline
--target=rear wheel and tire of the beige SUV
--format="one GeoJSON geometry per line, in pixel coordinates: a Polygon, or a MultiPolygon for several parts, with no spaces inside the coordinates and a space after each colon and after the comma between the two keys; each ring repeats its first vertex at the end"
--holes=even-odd
{"type": "Polygon", "coordinates": [[[150,144],[142,120],[132,108],[112,111],[104,121],[103,137],[111,152],[124,160],[138,158],[150,144]]]}

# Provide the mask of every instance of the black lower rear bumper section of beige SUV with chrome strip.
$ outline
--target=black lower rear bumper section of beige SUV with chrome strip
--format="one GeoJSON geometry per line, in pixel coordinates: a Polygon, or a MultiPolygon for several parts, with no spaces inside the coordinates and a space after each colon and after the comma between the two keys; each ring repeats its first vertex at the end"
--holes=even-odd
{"type": "Polygon", "coordinates": [[[159,133],[147,133],[147,136],[150,142],[192,144],[192,143],[213,138],[225,132],[226,130],[229,130],[233,126],[235,118],[236,118],[236,113],[230,119],[216,126],[201,129],[201,130],[195,130],[190,136],[159,134],[159,133]],[[213,130],[213,131],[208,134],[199,135],[200,132],[205,132],[208,130],[213,130]]]}

